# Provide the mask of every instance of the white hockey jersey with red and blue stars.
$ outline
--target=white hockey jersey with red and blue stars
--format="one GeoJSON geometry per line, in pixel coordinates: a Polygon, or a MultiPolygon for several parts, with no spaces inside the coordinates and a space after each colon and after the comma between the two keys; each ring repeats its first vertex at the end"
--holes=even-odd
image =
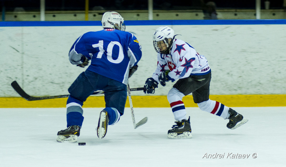
{"type": "Polygon", "coordinates": [[[208,61],[203,55],[199,55],[188,43],[175,39],[170,54],[158,53],[157,69],[152,75],[157,82],[158,76],[163,70],[170,70],[168,73],[172,82],[189,77],[190,75],[206,75],[210,73],[208,61]]]}

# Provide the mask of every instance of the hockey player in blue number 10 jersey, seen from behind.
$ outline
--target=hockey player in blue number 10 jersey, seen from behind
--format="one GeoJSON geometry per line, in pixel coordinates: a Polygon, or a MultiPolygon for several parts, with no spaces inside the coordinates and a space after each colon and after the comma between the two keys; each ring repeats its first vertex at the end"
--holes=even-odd
{"type": "Polygon", "coordinates": [[[141,59],[141,46],[136,37],[125,32],[124,19],[117,12],[102,16],[102,31],[80,36],[69,51],[70,63],[90,66],[72,83],[67,99],[67,129],[57,133],[58,142],[77,142],[84,120],[82,105],[96,90],[104,91],[106,108],[100,112],[97,135],[103,138],[108,125],[114,125],[124,113],[128,78],[141,59]]]}

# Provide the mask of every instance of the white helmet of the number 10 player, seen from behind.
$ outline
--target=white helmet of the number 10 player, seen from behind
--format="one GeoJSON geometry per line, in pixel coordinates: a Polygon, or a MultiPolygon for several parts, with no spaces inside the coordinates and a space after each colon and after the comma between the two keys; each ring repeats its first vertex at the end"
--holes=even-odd
{"type": "Polygon", "coordinates": [[[123,23],[123,17],[117,12],[105,12],[102,16],[102,27],[103,28],[112,28],[125,31],[125,24],[123,23]]]}

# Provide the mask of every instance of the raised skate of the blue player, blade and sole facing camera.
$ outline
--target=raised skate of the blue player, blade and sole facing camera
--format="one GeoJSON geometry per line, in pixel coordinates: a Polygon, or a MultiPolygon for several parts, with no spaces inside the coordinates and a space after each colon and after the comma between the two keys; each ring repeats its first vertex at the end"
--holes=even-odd
{"type": "Polygon", "coordinates": [[[97,136],[99,140],[101,138],[104,138],[104,136],[106,135],[108,122],[109,122],[108,113],[106,110],[102,110],[100,112],[98,126],[97,126],[97,136]]]}

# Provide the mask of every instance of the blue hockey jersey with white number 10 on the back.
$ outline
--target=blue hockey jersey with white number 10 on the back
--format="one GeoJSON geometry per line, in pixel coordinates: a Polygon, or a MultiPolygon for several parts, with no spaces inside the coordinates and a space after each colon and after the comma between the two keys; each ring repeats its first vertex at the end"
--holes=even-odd
{"type": "Polygon", "coordinates": [[[80,36],[69,51],[69,61],[81,64],[82,56],[91,60],[88,70],[127,84],[129,69],[141,59],[136,37],[125,31],[104,29],[80,36]]]}

